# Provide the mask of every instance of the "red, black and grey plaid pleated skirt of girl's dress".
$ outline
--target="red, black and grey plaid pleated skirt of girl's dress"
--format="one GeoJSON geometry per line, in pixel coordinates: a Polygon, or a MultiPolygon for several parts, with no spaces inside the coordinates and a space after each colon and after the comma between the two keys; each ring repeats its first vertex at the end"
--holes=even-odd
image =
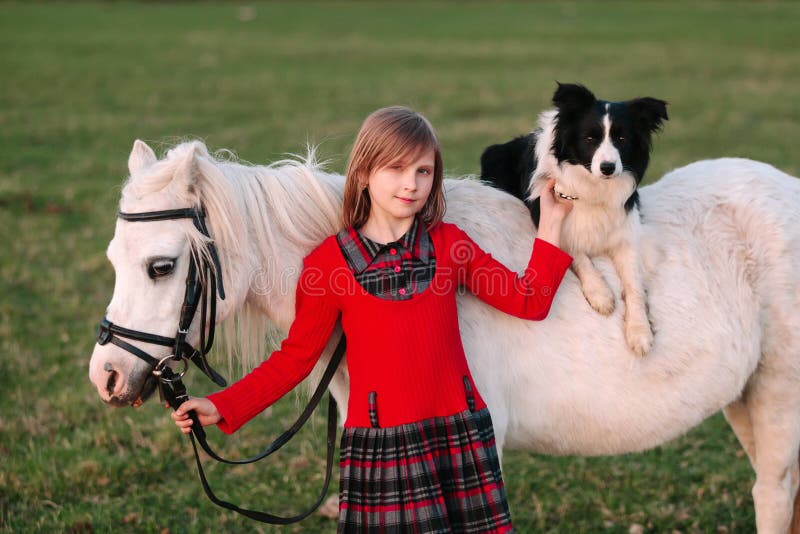
{"type": "Polygon", "coordinates": [[[510,532],[488,409],[345,428],[338,532],[510,532]]]}

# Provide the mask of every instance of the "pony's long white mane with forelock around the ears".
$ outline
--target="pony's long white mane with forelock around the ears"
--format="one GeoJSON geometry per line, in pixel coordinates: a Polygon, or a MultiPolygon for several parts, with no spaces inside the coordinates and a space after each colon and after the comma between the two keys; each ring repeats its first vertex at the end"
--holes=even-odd
{"type": "MultiPolygon", "coordinates": [[[[339,230],[343,187],[341,176],[322,169],[314,147],[305,157],[292,155],[257,166],[237,161],[229,151],[211,155],[205,144],[190,141],[131,175],[120,208],[126,211],[124,207],[151,193],[168,195],[170,208],[203,206],[224,279],[244,279],[249,284],[256,273],[241,270],[263,261],[265,255],[278,254],[286,240],[310,251],[339,230]],[[186,168],[191,169],[190,176],[180,183],[178,177],[186,168]]],[[[182,226],[192,253],[207,255],[208,239],[190,220],[182,221],[182,226]]],[[[226,290],[231,298],[236,288],[226,290]]],[[[264,320],[265,310],[245,300],[250,289],[244,290],[244,305],[220,329],[229,372],[236,360],[241,370],[252,367],[264,358],[267,347],[270,325],[264,320]]]]}

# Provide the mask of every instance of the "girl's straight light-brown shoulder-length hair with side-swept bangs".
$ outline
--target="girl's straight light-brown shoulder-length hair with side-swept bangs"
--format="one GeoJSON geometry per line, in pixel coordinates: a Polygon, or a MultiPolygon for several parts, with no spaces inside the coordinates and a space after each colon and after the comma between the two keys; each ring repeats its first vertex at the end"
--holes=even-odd
{"type": "Polygon", "coordinates": [[[425,117],[406,107],[391,106],[372,112],[361,125],[347,162],[342,206],[344,226],[360,228],[367,222],[372,209],[367,183],[374,171],[404,158],[414,160],[430,149],[435,160],[433,185],[420,210],[428,228],[441,221],[445,211],[442,153],[436,132],[425,117]]]}

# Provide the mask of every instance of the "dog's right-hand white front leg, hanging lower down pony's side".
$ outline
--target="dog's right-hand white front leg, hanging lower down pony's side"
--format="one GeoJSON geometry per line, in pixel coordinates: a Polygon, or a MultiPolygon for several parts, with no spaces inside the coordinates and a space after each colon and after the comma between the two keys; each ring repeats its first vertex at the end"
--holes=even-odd
{"type": "Polygon", "coordinates": [[[622,283],[622,298],[625,300],[625,340],[633,352],[644,356],[653,347],[653,331],[647,318],[639,254],[630,243],[625,242],[612,252],[611,260],[622,283]]]}

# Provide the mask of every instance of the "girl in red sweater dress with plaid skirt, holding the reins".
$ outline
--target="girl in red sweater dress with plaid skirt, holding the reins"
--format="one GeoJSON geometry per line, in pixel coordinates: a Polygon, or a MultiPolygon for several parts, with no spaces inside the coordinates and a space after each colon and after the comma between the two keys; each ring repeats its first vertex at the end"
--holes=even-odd
{"type": "Polygon", "coordinates": [[[281,348],[229,388],[172,415],[184,433],[231,433],[308,375],[341,316],[350,396],[341,439],[339,531],[507,532],[492,421],[470,375],[456,292],[544,319],[571,258],[557,248],[568,201],[553,183],[518,276],[442,222],[442,158],[421,115],[380,109],[350,154],[345,229],[304,260],[281,348]]]}

